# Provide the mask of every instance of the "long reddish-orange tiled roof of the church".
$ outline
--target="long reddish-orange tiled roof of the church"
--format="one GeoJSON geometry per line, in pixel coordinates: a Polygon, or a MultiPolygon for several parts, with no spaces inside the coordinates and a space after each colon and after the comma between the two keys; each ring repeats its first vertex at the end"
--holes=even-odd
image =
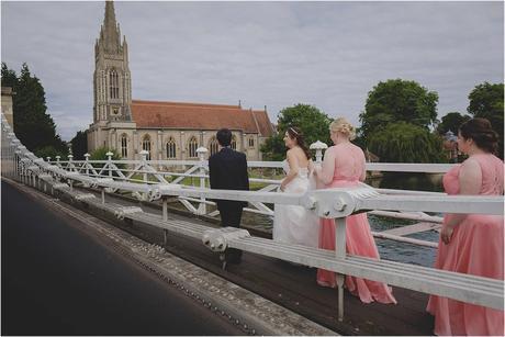
{"type": "Polygon", "coordinates": [[[157,102],[132,100],[132,117],[138,128],[240,130],[245,133],[273,134],[263,110],[244,110],[238,105],[157,102]]]}

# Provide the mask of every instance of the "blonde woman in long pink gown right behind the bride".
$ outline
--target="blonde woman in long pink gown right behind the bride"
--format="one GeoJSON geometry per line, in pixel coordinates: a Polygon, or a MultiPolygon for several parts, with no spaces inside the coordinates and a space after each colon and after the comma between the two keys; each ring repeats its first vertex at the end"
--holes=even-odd
{"type": "MultiPolygon", "coordinates": [[[[346,119],[336,119],[329,125],[329,133],[335,146],[329,147],[324,156],[322,168],[315,168],[319,183],[324,188],[356,187],[364,180],[364,154],[350,143],[356,136],[355,127],[346,119]]],[[[346,218],[346,251],[350,255],[379,259],[379,251],[370,232],[367,214],[356,214],[346,218]]],[[[319,248],[335,250],[335,221],[321,218],[319,248]]],[[[336,287],[335,272],[318,269],[317,283],[323,287],[336,287]]],[[[380,282],[346,277],[346,287],[361,302],[396,303],[391,289],[380,282]]]]}

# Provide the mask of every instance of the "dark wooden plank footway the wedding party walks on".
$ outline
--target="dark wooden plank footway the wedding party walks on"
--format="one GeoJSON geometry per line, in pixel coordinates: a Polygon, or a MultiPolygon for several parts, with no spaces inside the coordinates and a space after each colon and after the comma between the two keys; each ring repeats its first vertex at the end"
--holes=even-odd
{"type": "MultiPolygon", "coordinates": [[[[123,205],[135,203],[145,212],[160,213],[157,207],[123,198],[108,194],[106,200],[123,205]]],[[[184,216],[170,216],[188,221],[184,216]]],[[[197,218],[193,221],[214,226],[197,218]]],[[[123,223],[121,227],[147,241],[162,245],[162,232],[158,228],[137,222],[123,223]]],[[[166,249],[344,335],[433,335],[434,319],[425,312],[428,296],[423,293],[395,288],[393,293],[399,304],[384,305],[363,304],[346,292],[345,318],[337,323],[337,291],[318,287],[315,269],[245,254],[240,265],[228,265],[223,271],[218,256],[200,240],[176,235],[169,237],[166,249]]]]}

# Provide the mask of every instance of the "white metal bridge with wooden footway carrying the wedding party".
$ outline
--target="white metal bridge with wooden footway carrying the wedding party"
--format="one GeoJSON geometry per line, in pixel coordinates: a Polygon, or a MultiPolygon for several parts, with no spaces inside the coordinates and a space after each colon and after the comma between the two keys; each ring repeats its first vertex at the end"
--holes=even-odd
{"type": "MultiPolygon", "coordinates": [[[[324,146],[313,147],[316,161],[321,161],[324,146]]],[[[502,280],[371,260],[347,255],[345,249],[327,251],[273,243],[255,228],[218,228],[217,211],[211,201],[247,201],[246,212],[262,216],[272,215],[271,204],[302,205],[321,217],[336,220],[337,247],[345,247],[345,217],[350,214],[369,212],[414,220],[414,225],[377,232],[374,236],[436,248],[436,243],[405,235],[437,231],[439,213],[503,214],[503,196],[449,196],[366,184],[290,194],[277,193],[280,181],[265,177],[250,179],[258,188],[256,191],[215,191],[206,187],[205,151],[199,149],[198,161],[147,160],[145,153],[141,153],[142,160],[112,160],[112,154],[108,160],[89,160],[89,156],[80,161],[71,156],[65,161],[44,160],[16,139],[2,116],[2,187],[9,193],[2,200],[11,200],[10,194],[15,193],[20,199],[31,195],[23,202],[43,205],[41,212],[45,209],[67,214],[92,232],[93,237],[104,240],[102,246],[113,247],[123,259],[135,261],[142,273],[157,276],[188,301],[207,308],[205,313],[224,317],[221,325],[226,322],[240,329],[240,334],[430,335],[433,322],[424,312],[428,294],[503,310],[502,280]],[[227,247],[245,251],[242,265],[221,262],[220,255],[227,247]],[[318,288],[313,268],[337,272],[338,290],[318,288]],[[344,291],[345,274],[395,287],[399,304],[360,303],[344,291]]],[[[279,169],[280,162],[249,162],[249,167],[265,173],[279,169]]],[[[450,165],[369,164],[367,169],[445,172],[449,168],[450,165]]],[[[27,209],[31,207],[24,207],[27,209]]],[[[22,210],[18,209],[12,216],[20,215],[22,210]]],[[[40,240],[46,226],[50,225],[41,222],[37,226],[40,240]]],[[[58,241],[66,240],[61,236],[58,241]]],[[[20,245],[19,249],[23,247],[20,245]]],[[[144,282],[145,289],[155,287],[144,282]]],[[[145,296],[148,295],[146,291],[145,296]]],[[[204,334],[212,332],[209,327],[204,334]]],[[[218,334],[237,333],[223,329],[218,334]]]]}

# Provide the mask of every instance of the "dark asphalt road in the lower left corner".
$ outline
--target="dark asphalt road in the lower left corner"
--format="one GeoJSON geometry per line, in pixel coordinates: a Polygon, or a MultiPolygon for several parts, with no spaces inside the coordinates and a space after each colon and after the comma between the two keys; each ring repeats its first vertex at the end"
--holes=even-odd
{"type": "Polygon", "coordinates": [[[2,335],[243,334],[72,220],[1,188],[2,335]]]}

